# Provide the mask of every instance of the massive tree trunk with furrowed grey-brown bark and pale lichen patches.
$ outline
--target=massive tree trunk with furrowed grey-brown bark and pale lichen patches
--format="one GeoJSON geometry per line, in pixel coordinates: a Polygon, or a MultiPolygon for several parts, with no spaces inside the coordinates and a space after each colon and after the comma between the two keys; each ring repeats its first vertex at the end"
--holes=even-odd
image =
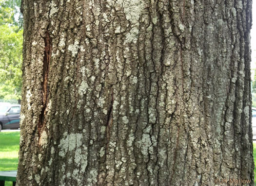
{"type": "Polygon", "coordinates": [[[19,186],[254,185],[251,0],[22,6],[19,186]]]}

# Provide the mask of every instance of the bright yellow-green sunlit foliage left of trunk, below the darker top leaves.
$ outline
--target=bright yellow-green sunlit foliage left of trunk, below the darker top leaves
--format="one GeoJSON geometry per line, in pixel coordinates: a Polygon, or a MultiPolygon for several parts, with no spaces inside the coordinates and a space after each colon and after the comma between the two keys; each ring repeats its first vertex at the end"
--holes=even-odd
{"type": "Polygon", "coordinates": [[[22,33],[16,26],[0,26],[0,98],[20,99],[22,33]]]}

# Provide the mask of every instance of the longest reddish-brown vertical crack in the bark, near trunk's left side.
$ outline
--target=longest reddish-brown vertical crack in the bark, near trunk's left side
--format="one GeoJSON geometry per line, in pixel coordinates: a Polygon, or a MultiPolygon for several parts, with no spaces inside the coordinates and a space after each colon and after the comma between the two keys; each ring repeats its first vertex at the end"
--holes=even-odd
{"type": "Polygon", "coordinates": [[[52,54],[52,39],[50,37],[50,34],[48,30],[46,31],[45,37],[44,37],[44,57],[43,57],[43,71],[42,71],[42,110],[41,114],[39,115],[39,124],[38,124],[38,134],[39,134],[39,141],[42,132],[46,128],[46,122],[45,122],[45,115],[46,115],[46,106],[48,103],[48,96],[49,96],[49,87],[47,85],[48,82],[48,73],[50,68],[50,60],[51,60],[51,54],[52,54]]]}

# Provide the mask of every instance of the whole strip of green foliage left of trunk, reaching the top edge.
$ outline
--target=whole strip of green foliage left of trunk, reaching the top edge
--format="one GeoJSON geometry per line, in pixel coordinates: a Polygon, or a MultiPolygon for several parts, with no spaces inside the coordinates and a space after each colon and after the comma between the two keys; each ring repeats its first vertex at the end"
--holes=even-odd
{"type": "Polygon", "coordinates": [[[0,0],[0,99],[21,98],[23,29],[14,15],[20,0],[0,0]]]}

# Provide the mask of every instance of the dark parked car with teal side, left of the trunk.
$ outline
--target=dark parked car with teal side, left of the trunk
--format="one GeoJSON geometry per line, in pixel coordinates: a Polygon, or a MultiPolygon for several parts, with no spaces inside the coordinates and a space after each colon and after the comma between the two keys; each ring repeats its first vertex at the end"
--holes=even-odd
{"type": "Polygon", "coordinates": [[[20,128],[20,104],[0,102],[0,131],[20,128]]]}

